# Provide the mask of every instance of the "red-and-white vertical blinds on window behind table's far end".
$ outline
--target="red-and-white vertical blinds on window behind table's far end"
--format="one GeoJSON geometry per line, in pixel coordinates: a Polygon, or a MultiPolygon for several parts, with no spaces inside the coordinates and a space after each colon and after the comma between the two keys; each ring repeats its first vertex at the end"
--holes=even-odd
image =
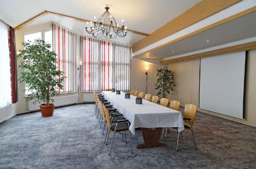
{"type": "Polygon", "coordinates": [[[81,89],[130,89],[132,47],[91,37],[80,37],[81,89]]]}

